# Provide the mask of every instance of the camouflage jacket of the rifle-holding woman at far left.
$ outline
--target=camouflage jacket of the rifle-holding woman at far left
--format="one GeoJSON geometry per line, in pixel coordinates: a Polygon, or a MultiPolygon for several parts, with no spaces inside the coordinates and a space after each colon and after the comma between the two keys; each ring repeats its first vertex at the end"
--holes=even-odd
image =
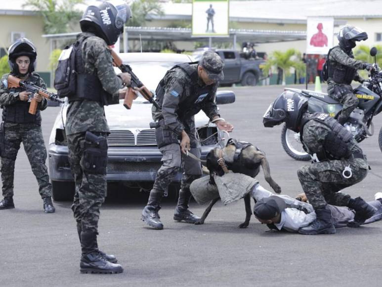
{"type": "MultiPolygon", "coordinates": [[[[17,89],[11,89],[8,90],[8,76],[10,74],[4,74],[1,77],[1,83],[0,83],[0,105],[1,106],[9,106],[13,105],[15,103],[21,102],[19,97],[19,93],[22,91],[25,91],[23,88],[17,88],[17,89]]],[[[42,80],[42,77],[38,73],[32,73],[33,76],[37,76],[39,79],[36,82],[36,86],[39,86],[42,89],[46,89],[46,85],[44,80],[42,80]]],[[[30,81],[31,76],[29,75],[25,81],[30,81]]],[[[33,95],[31,95],[33,96],[33,95]]],[[[48,101],[46,98],[42,98],[42,101],[38,104],[37,108],[38,110],[44,110],[48,105],[48,101]]]]}

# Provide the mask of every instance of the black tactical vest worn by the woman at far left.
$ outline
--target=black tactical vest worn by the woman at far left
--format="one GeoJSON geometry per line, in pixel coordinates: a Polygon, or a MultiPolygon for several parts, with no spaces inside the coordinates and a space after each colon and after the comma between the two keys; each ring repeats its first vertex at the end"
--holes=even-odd
{"type": "MultiPolygon", "coordinates": [[[[27,81],[36,85],[39,80],[39,76],[32,74],[27,81]]],[[[20,93],[25,91],[24,88],[11,88],[9,92],[20,93]]],[[[31,95],[33,96],[33,95],[31,95]]],[[[37,109],[36,114],[29,113],[29,101],[17,101],[14,104],[3,106],[2,120],[7,123],[25,124],[25,123],[41,123],[40,110],[37,109]]]]}

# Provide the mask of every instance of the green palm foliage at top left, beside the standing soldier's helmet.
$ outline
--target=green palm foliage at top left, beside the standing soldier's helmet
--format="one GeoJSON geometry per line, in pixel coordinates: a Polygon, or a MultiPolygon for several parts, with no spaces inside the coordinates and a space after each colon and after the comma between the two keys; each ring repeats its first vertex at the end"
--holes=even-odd
{"type": "Polygon", "coordinates": [[[66,33],[71,24],[81,19],[82,12],[75,5],[84,0],[27,0],[23,7],[32,7],[43,17],[45,34],[66,33]]]}

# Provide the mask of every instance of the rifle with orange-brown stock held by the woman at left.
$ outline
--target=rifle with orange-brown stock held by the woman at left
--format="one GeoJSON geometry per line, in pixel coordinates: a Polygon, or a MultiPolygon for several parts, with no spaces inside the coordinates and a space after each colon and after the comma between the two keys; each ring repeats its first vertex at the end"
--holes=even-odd
{"type": "MultiPolygon", "coordinates": [[[[21,80],[15,76],[9,75],[8,76],[8,89],[10,88],[19,88],[22,87],[26,91],[31,92],[33,94],[39,94],[40,96],[43,96],[47,99],[58,101],[60,103],[64,103],[64,101],[60,100],[56,94],[50,93],[39,86],[36,86],[35,84],[31,82],[27,82],[24,80],[21,80]]],[[[33,97],[31,97],[31,104],[29,106],[29,113],[34,115],[36,114],[37,109],[37,100],[35,100],[33,97]]]]}

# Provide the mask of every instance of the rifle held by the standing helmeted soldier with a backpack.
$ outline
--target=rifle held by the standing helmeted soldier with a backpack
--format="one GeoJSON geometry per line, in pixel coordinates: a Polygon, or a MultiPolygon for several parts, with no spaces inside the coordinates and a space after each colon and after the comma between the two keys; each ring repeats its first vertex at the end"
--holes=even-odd
{"type": "Polygon", "coordinates": [[[139,93],[147,99],[149,102],[151,102],[156,108],[160,109],[161,107],[158,105],[158,103],[154,100],[153,94],[147,89],[143,83],[138,79],[138,77],[133,73],[131,67],[129,65],[125,65],[122,62],[122,59],[118,56],[118,54],[111,49],[111,55],[113,57],[113,64],[120,68],[120,70],[123,73],[129,73],[131,75],[131,84],[127,89],[127,92],[125,94],[125,100],[124,100],[124,106],[127,109],[131,108],[132,100],[135,98],[135,93],[133,92],[133,88],[138,88],[139,93]]]}

